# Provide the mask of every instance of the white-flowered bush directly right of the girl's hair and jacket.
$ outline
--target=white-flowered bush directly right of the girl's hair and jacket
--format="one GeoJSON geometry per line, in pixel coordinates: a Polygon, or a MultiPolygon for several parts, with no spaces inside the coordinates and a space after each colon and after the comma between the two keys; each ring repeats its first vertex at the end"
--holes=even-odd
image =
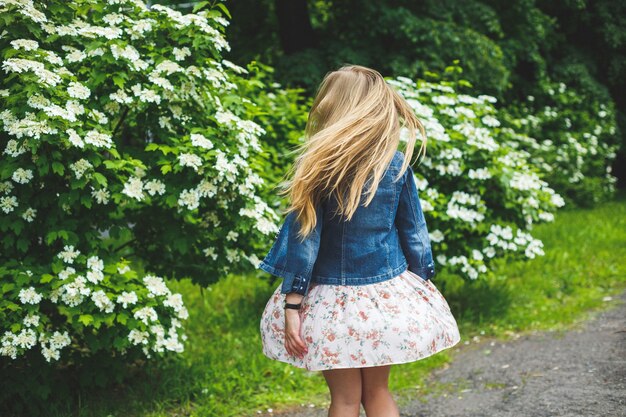
{"type": "Polygon", "coordinates": [[[519,135],[501,127],[496,99],[459,93],[448,81],[388,82],[426,129],[427,152],[415,175],[436,261],[476,279],[495,257],[543,255],[529,231],[552,221],[564,201],[530,154],[512,145],[519,135]]]}

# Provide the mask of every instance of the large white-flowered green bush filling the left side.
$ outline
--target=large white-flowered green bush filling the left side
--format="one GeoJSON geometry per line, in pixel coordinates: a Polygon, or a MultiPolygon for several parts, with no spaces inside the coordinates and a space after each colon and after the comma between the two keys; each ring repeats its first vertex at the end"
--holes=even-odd
{"type": "Polygon", "coordinates": [[[263,133],[246,69],[221,57],[226,10],[0,13],[0,355],[180,352],[187,311],[161,277],[251,269],[250,242],[277,231],[246,161],[263,133]]]}

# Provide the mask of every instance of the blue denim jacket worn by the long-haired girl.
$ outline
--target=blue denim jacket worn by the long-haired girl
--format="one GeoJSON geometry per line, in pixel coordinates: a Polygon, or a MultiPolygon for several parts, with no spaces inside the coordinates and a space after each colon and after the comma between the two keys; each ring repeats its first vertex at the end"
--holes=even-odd
{"type": "Polygon", "coordinates": [[[300,242],[295,213],[288,213],[257,268],[283,278],[282,294],[307,295],[311,282],[381,282],[406,269],[425,280],[432,278],[435,263],[411,166],[393,182],[403,160],[404,154],[396,151],[374,199],[368,207],[359,206],[350,221],[333,215],[335,199],[325,200],[316,207],[315,229],[300,242]]]}

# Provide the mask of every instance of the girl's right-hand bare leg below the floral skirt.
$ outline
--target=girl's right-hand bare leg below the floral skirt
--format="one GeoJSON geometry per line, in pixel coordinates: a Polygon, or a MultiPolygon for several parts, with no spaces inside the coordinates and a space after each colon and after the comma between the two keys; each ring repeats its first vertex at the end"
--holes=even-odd
{"type": "Polygon", "coordinates": [[[361,368],[361,402],[367,417],[400,417],[400,411],[389,392],[391,365],[361,368]]]}

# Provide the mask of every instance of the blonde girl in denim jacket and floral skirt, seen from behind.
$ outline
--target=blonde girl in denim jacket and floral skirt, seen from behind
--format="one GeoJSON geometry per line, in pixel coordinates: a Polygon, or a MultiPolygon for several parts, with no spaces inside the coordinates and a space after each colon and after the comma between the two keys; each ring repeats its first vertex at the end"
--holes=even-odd
{"type": "Polygon", "coordinates": [[[459,330],[431,282],[435,264],[409,161],[417,131],[377,72],[326,75],[282,193],[290,206],[258,267],[283,278],[261,317],[263,353],[321,371],[329,417],[399,416],[392,364],[454,346],[459,330]],[[404,153],[398,151],[406,129],[404,153]]]}

